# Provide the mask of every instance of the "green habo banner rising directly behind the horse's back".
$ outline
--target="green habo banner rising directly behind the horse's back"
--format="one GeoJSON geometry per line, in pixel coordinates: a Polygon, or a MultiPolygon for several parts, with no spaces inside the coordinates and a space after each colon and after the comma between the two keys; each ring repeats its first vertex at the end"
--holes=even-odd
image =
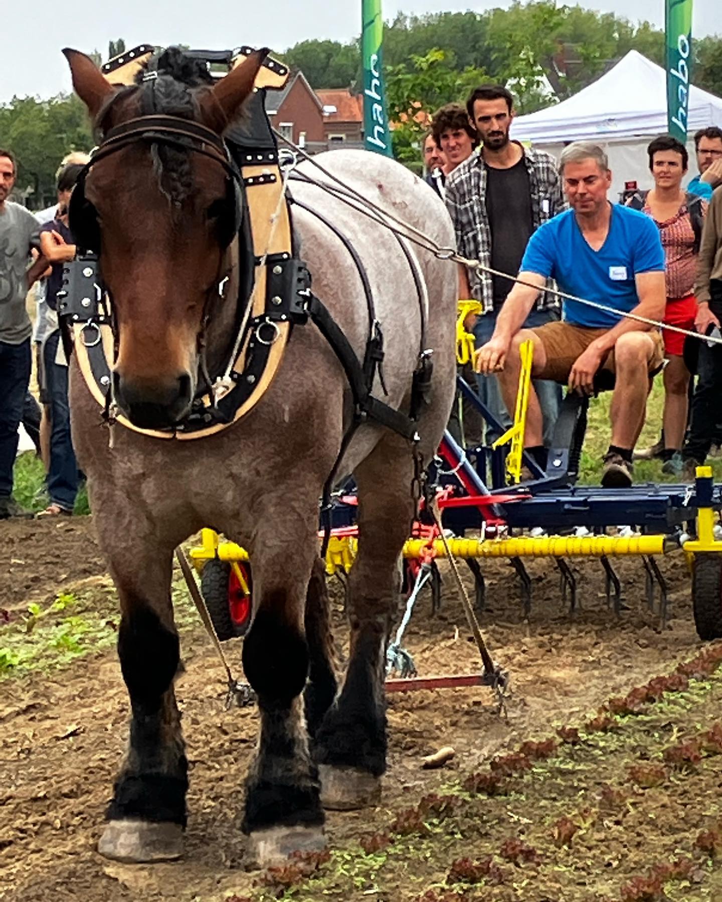
{"type": "Polygon", "coordinates": [[[384,20],[381,0],[361,0],[364,59],[364,143],[367,151],[392,156],[384,95],[384,20]]]}

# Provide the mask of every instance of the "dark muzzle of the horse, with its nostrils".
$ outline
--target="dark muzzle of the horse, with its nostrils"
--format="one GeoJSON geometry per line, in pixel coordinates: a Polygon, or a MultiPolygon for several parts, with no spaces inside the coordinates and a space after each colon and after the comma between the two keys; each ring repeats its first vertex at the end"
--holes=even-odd
{"type": "Polygon", "coordinates": [[[164,382],[124,379],[113,373],[113,396],[125,416],[139,428],[177,426],[190,412],[193,383],[188,373],[164,382]]]}

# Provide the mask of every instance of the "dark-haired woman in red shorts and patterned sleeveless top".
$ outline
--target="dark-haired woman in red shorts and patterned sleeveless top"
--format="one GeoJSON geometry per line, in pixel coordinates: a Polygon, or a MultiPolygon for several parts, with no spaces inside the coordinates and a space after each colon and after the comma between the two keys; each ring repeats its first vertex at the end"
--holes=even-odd
{"type": "MultiPolygon", "coordinates": [[[[671,135],[655,138],[647,148],[654,179],[651,191],[638,192],[628,206],[652,216],[660,230],[666,260],[667,307],[664,322],[669,326],[694,329],[697,301],[692,294],[697,254],[707,202],[684,191],[687,148],[671,135]]],[[[662,472],[680,475],[681,447],[687,428],[690,371],[684,361],[684,336],[662,329],[664,355],[664,413],[662,417],[662,472]]],[[[650,455],[652,456],[652,455],[650,455]]]]}

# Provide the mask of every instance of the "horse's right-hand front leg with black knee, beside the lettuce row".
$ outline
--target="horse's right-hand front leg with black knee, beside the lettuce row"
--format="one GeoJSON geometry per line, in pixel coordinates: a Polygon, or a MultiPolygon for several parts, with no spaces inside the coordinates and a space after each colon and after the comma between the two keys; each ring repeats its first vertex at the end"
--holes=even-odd
{"type": "MultiPolygon", "coordinates": [[[[315,513],[315,505],[310,505],[315,513]]],[[[318,555],[315,523],[278,521],[254,542],[255,617],[243,647],[245,676],[258,695],[261,733],[246,783],[243,828],[261,866],[294,851],[324,848],[319,779],[303,711],[309,674],[306,593],[318,555]],[[288,542],[292,537],[293,554],[288,542]]]]}

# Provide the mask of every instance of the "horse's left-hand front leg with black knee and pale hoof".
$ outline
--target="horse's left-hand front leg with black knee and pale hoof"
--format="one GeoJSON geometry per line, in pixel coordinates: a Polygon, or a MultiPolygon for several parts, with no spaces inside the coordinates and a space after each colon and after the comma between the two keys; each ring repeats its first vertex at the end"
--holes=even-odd
{"type": "Polygon", "coordinates": [[[173,692],[179,640],[171,606],[172,550],[150,540],[138,547],[148,549],[144,559],[125,548],[109,552],[120,596],[118,655],[131,723],[98,851],[116,861],[164,861],[183,851],[188,788],[173,692]]]}

